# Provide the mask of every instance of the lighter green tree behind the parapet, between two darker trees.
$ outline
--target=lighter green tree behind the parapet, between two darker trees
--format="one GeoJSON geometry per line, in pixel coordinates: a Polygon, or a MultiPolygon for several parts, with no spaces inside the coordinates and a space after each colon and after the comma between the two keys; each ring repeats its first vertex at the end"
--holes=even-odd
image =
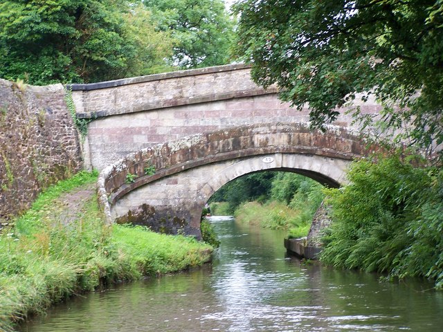
{"type": "Polygon", "coordinates": [[[175,39],[172,64],[183,68],[226,64],[233,19],[222,0],[143,0],[157,28],[175,39]]]}

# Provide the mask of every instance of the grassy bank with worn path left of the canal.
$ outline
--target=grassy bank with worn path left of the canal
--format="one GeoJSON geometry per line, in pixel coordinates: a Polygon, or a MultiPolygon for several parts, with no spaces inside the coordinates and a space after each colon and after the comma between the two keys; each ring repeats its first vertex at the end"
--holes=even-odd
{"type": "Polygon", "coordinates": [[[54,302],[100,285],[198,266],[212,248],[195,239],[141,227],[106,226],[95,194],[82,196],[96,174],[82,172],[40,195],[0,235],[0,331],[54,302]],[[66,203],[67,202],[67,203],[66,203]]]}

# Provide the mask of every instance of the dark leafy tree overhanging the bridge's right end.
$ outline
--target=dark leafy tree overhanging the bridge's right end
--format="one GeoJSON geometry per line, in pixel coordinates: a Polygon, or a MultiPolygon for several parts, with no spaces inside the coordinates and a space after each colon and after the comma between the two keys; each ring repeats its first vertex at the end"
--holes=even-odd
{"type": "Polygon", "coordinates": [[[384,127],[408,127],[402,138],[420,147],[443,142],[443,0],[243,0],[234,10],[253,80],[309,103],[313,127],[373,94],[384,127]]]}

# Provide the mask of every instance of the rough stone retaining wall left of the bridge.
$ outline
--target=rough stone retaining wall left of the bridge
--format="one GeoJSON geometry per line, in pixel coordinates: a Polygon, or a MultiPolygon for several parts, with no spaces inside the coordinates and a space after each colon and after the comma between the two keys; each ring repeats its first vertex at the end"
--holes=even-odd
{"type": "Polygon", "coordinates": [[[0,79],[0,223],[82,168],[79,136],[64,97],[62,84],[26,86],[0,79]]]}

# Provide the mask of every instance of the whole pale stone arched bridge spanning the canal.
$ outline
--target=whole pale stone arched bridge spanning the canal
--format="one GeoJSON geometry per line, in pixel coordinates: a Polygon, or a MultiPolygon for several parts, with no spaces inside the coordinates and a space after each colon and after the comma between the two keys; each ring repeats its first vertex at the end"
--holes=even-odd
{"type": "MultiPolygon", "coordinates": [[[[244,65],[71,89],[78,118],[91,121],[84,160],[102,171],[110,222],[200,237],[204,204],[234,178],[284,170],[337,187],[350,160],[367,151],[346,109],[325,133],[311,131],[308,108],[297,111],[275,87],[256,86],[244,65]]],[[[373,100],[358,106],[374,116],[380,109],[373,100]]]]}

